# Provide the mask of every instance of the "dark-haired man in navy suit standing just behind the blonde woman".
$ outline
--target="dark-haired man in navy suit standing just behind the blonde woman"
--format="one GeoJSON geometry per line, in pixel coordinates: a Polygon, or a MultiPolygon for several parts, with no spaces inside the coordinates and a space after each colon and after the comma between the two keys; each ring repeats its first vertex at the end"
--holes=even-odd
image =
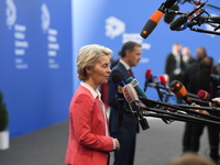
{"type": "Polygon", "coordinates": [[[133,76],[129,70],[136,66],[141,59],[141,45],[129,41],[123,44],[119,56],[119,63],[112,68],[109,78],[108,103],[110,106],[109,127],[110,134],[120,142],[120,150],[114,152],[114,165],[133,165],[136,143],[136,132],[139,132],[138,117],[132,113],[123,113],[122,127],[119,127],[119,110],[116,91],[112,82],[112,75],[120,74],[122,80],[133,76]]]}

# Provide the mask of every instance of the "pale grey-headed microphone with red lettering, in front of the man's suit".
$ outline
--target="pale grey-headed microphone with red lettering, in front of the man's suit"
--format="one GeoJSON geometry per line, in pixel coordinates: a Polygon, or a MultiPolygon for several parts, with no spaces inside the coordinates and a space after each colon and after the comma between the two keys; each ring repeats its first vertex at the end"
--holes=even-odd
{"type": "Polygon", "coordinates": [[[143,117],[143,114],[141,113],[141,110],[140,110],[140,107],[138,105],[138,101],[139,101],[139,97],[136,95],[136,91],[135,89],[132,87],[131,84],[128,84],[123,87],[123,96],[125,98],[125,100],[129,102],[129,103],[134,103],[135,105],[135,110],[136,110],[136,113],[140,118],[139,122],[142,127],[143,130],[146,130],[148,129],[148,123],[146,121],[146,119],[143,117]]]}

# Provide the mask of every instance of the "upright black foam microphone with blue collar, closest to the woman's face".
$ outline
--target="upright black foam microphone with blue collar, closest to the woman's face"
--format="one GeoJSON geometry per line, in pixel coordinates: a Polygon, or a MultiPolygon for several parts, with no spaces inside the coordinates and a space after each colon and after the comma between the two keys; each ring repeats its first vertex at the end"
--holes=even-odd
{"type": "Polygon", "coordinates": [[[124,97],[123,97],[123,87],[125,86],[124,81],[122,80],[122,77],[120,74],[113,74],[112,75],[112,81],[113,81],[113,88],[117,92],[117,100],[118,100],[118,111],[119,111],[119,120],[118,120],[118,127],[122,127],[122,120],[123,120],[123,112],[124,110],[124,97]]]}

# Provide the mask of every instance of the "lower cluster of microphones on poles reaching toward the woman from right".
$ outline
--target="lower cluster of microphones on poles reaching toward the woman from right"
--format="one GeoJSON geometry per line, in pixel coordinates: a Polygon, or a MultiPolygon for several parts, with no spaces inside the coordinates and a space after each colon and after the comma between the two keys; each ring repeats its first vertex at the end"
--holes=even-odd
{"type": "Polygon", "coordinates": [[[138,116],[138,122],[143,130],[150,128],[147,117],[160,118],[167,124],[183,121],[220,125],[220,103],[210,99],[207,91],[199,90],[197,95],[188,94],[185,86],[178,80],[172,81],[168,86],[165,76],[152,76],[151,69],[146,70],[145,78],[143,89],[133,77],[129,77],[124,82],[120,74],[112,75],[119,108],[119,128],[123,124],[124,113],[138,116]],[[167,92],[163,92],[163,95],[183,98],[186,105],[150,99],[145,94],[147,87],[156,88],[158,94],[162,92],[161,90],[166,90],[167,92]],[[215,107],[210,107],[211,103],[215,107]]]}

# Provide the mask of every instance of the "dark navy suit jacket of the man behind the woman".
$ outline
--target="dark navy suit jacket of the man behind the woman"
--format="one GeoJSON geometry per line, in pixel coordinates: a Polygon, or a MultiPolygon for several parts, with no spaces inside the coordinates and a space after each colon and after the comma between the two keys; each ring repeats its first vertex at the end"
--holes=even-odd
{"type": "MultiPolygon", "coordinates": [[[[116,98],[116,90],[113,88],[112,82],[112,75],[120,74],[123,81],[127,84],[127,79],[130,77],[129,72],[125,67],[118,63],[113,68],[112,73],[109,77],[109,89],[108,89],[108,103],[110,106],[110,118],[109,118],[109,125],[111,133],[127,133],[127,134],[134,134],[139,130],[139,123],[136,116],[132,113],[123,113],[122,127],[118,127],[118,119],[119,119],[119,111],[118,111],[118,100],[116,98]]],[[[125,101],[125,100],[124,100],[125,101]]]]}

